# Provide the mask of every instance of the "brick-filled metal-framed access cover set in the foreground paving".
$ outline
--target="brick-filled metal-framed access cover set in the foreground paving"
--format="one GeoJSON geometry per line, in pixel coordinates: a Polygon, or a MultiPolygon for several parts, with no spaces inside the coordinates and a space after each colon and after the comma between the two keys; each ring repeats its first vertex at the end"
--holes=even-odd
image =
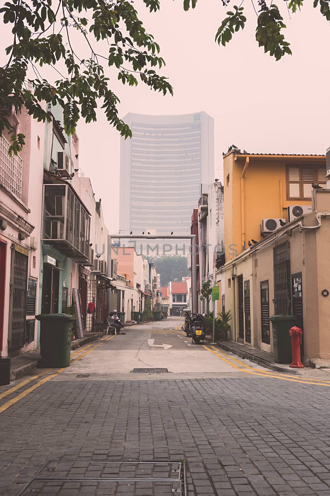
{"type": "MultiPolygon", "coordinates": [[[[52,496],[98,494],[107,490],[109,495],[122,495],[124,486],[130,494],[153,496],[188,496],[186,471],[182,462],[169,461],[48,461],[31,479],[18,496],[29,494],[52,496]]],[[[102,493],[104,494],[104,493],[102,493]]]]}

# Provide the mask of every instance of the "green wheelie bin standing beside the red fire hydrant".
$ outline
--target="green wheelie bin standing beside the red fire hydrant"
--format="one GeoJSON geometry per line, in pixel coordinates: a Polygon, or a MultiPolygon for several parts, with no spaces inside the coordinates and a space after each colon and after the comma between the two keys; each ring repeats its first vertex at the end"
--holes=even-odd
{"type": "Polygon", "coordinates": [[[273,315],[270,317],[273,325],[274,361],[276,364],[292,362],[291,338],[289,329],[295,325],[295,315],[273,315]]]}

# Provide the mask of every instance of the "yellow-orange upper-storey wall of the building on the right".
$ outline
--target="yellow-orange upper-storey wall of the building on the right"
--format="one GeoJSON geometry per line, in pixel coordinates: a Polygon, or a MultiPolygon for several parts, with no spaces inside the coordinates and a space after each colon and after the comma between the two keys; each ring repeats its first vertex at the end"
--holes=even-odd
{"type": "MultiPolygon", "coordinates": [[[[242,251],[241,228],[241,174],[246,157],[236,160],[234,154],[224,158],[224,210],[225,210],[225,255],[226,261],[242,251]]],[[[286,164],[326,165],[325,158],[306,161],[283,157],[253,158],[244,178],[245,249],[248,241],[262,240],[260,226],[265,218],[284,218],[287,221],[287,207],[290,205],[311,205],[312,200],[286,199],[286,164]]]]}

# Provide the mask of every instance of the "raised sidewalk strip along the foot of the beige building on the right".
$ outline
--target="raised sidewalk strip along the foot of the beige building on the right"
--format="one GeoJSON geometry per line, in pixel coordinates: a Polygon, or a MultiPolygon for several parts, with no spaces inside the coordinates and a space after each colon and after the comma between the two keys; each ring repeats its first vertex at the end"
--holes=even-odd
{"type": "Polygon", "coordinates": [[[276,364],[273,353],[267,353],[266,351],[259,350],[258,348],[237,343],[231,339],[228,339],[228,341],[217,341],[217,345],[223,350],[235,353],[235,355],[238,355],[241,358],[246,358],[255,364],[267,367],[267,369],[289,374],[297,373],[295,369],[290,369],[288,364],[276,364]]]}

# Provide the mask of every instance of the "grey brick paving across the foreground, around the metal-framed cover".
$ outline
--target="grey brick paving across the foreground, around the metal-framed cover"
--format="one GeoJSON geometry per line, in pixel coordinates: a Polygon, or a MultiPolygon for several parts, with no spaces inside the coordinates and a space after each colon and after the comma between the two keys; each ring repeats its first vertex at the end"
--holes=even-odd
{"type": "MultiPolygon", "coordinates": [[[[329,411],[327,387],[243,373],[50,380],[0,414],[0,494],[16,496],[50,459],[184,458],[189,496],[329,496],[329,411]]],[[[147,482],[70,484],[39,494],[169,494],[147,482]]]]}

